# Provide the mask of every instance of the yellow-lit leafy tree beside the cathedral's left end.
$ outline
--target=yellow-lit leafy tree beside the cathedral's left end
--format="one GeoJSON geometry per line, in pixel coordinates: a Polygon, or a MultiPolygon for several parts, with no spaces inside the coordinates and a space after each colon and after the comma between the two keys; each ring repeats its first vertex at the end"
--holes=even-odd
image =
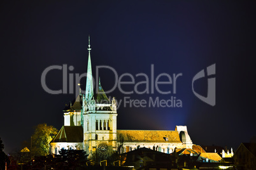
{"type": "Polygon", "coordinates": [[[58,133],[58,130],[53,126],[47,126],[47,124],[38,124],[36,126],[34,134],[32,135],[32,149],[31,154],[37,156],[45,156],[49,154],[49,143],[54,136],[58,133]]]}

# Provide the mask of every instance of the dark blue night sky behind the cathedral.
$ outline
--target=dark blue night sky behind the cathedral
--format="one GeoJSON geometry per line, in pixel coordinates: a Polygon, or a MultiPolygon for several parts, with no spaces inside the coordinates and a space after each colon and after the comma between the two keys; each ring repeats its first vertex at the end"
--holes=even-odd
{"type": "MultiPolygon", "coordinates": [[[[135,84],[145,81],[136,74],[151,76],[151,65],[155,77],[182,74],[176,94],[173,84],[159,85],[162,91],[171,91],[169,95],[155,88],[148,94],[124,95],[118,88],[108,93],[122,100],[118,129],[174,130],[186,125],[193,143],[234,150],[256,136],[255,1],[4,1],[0,9],[0,137],[6,154],[20,150],[34,126],[47,123],[60,129],[64,124],[62,110],[75,94],[47,93],[41,74],[53,65],[73,66],[68,75],[74,77],[87,72],[89,34],[94,78],[96,67],[102,65],[113,67],[118,78],[131,74],[135,84]],[[216,105],[212,107],[194,95],[192,79],[214,63],[216,105]],[[125,97],[149,101],[171,96],[182,101],[181,108],[124,106],[125,97]]],[[[113,88],[111,70],[100,69],[99,76],[104,91],[113,88]]],[[[204,96],[207,78],[194,84],[204,96]]],[[[62,89],[62,70],[48,72],[46,84],[62,89]]],[[[80,84],[84,90],[85,77],[80,84]]],[[[145,88],[139,86],[140,91],[145,88]]],[[[122,84],[122,89],[134,91],[134,84],[122,84]]]]}

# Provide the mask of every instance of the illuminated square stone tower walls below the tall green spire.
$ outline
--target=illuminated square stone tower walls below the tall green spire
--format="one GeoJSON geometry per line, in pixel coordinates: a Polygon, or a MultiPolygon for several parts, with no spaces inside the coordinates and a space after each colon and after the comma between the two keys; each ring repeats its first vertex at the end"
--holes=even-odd
{"type": "MultiPolygon", "coordinates": [[[[115,100],[115,98],[113,98],[115,100]]],[[[117,106],[99,104],[91,100],[88,104],[83,100],[83,148],[92,155],[97,146],[106,143],[111,150],[117,150],[117,106]]]]}

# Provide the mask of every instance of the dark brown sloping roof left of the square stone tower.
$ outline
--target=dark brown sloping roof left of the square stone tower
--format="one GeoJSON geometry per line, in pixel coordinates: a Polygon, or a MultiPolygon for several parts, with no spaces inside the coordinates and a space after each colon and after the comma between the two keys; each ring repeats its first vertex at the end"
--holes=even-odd
{"type": "Polygon", "coordinates": [[[59,133],[53,138],[55,142],[83,142],[82,126],[62,126],[59,133]]]}

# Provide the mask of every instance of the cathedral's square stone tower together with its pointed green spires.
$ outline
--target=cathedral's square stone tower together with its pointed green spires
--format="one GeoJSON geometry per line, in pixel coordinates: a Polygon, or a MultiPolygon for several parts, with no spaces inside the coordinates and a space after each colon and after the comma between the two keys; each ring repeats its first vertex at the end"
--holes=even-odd
{"type": "Polygon", "coordinates": [[[117,150],[117,102],[115,98],[108,99],[100,79],[97,93],[94,95],[90,62],[90,37],[88,50],[87,82],[85,95],[82,99],[81,117],[83,149],[90,157],[95,152],[104,155],[117,150]]]}

